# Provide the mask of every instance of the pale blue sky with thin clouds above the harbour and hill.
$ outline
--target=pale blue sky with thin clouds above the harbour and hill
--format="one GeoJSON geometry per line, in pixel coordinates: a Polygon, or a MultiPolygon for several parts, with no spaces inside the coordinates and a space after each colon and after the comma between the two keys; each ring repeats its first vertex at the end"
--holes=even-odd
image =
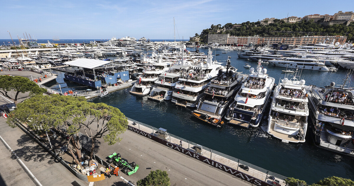
{"type": "Polygon", "coordinates": [[[0,0],[0,39],[189,39],[211,24],[354,11],[354,0],[0,0]],[[177,32],[178,31],[178,32],[177,32]]]}

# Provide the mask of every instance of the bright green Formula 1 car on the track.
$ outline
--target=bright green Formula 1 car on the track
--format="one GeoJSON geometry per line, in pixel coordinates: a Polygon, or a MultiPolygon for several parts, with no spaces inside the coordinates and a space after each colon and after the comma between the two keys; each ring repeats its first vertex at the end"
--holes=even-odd
{"type": "Polygon", "coordinates": [[[120,154],[118,153],[113,153],[108,156],[109,159],[107,160],[108,163],[113,163],[117,165],[119,168],[123,168],[121,171],[124,174],[131,175],[133,173],[136,173],[138,170],[139,166],[135,163],[128,163],[126,159],[123,159],[120,157],[120,154]],[[128,172],[129,171],[129,172],[128,172]]]}

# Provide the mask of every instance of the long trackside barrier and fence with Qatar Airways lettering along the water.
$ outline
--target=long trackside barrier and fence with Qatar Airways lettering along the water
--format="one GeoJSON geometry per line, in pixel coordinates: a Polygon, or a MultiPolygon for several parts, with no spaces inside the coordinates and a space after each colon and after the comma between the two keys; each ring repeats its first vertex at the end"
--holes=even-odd
{"type": "MultiPolygon", "coordinates": [[[[175,135],[172,135],[172,134],[169,134],[170,135],[170,139],[169,141],[165,141],[165,140],[162,140],[158,137],[155,136],[154,134],[154,131],[157,131],[158,129],[153,127],[153,126],[150,126],[148,124],[145,124],[145,123],[141,123],[141,122],[138,122],[134,119],[131,119],[131,118],[127,118],[128,120],[132,121],[132,122],[135,122],[137,125],[135,125],[134,127],[133,126],[128,126],[128,129],[137,133],[137,134],[140,134],[140,135],[143,135],[145,137],[148,137],[149,139],[152,139],[154,141],[157,141],[159,143],[161,143],[162,145],[165,145],[165,146],[168,146],[170,148],[173,148],[174,150],[176,151],[179,151],[181,153],[184,153],[192,158],[195,158],[195,159],[198,159],[200,160],[201,162],[204,162],[204,163],[207,163],[213,167],[216,167],[218,169],[221,169],[229,174],[232,174],[236,177],[239,177],[240,179],[243,179],[245,181],[248,181],[248,182],[251,182],[252,184],[255,184],[255,185],[272,185],[271,183],[273,182],[272,179],[269,179],[269,177],[275,177],[276,180],[280,179],[280,180],[285,180],[287,177],[285,176],[282,176],[280,174],[277,174],[277,173],[273,173],[272,171],[269,171],[269,170],[266,170],[266,169],[263,169],[261,167],[258,167],[256,165],[253,165],[251,163],[248,163],[248,162],[245,162],[243,160],[240,160],[238,158],[235,158],[235,157],[232,157],[232,156],[229,156],[227,154],[224,154],[224,153],[221,153],[221,152],[218,152],[218,151],[215,151],[215,150],[212,150],[210,148],[207,148],[207,147],[204,147],[203,146],[203,151],[205,152],[209,152],[209,156],[206,157],[206,153],[204,153],[204,155],[199,155],[199,154],[195,154],[193,151],[190,151],[188,149],[190,149],[191,147],[193,146],[196,146],[198,144],[194,143],[194,142],[191,142],[191,141],[188,141],[186,139],[183,139],[181,137],[178,137],[178,136],[175,136],[175,135]],[[142,125],[142,126],[141,126],[142,125]],[[140,130],[140,128],[149,128],[150,130],[152,130],[153,132],[152,133],[149,133],[149,132],[144,132],[142,130],[140,130]],[[178,139],[177,143],[179,144],[179,140],[182,140],[184,142],[188,142],[188,148],[182,148],[182,147],[179,147],[178,144],[176,145],[176,142],[173,143],[171,142],[171,137],[175,138],[175,139],[178,139]],[[234,164],[225,164],[225,163],[220,163],[220,162],[217,162],[217,160],[215,159],[215,155],[218,155],[218,156],[221,156],[221,157],[224,157],[226,159],[229,159],[229,160],[232,160],[233,162],[236,162],[236,166],[237,168],[235,167],[234,164]],[[198,157],[198,158],[196,158],[198,157]],[[259,178],[262,178],[261,179],[257,179],[255,176],[250,176],[248,174],[245,174],[241,168],[239,170],[239,166],[238,165],[246,165],[248,166],[250,169],[255,169],[259,172],[259,174],[256,174],[256,177],[259,177],[259,178]],[[268,182],[267,182],[268,180],[268,182]]],[[[255,175],[255,173],[253,173],[253,175],[255,175]]],[[[285,183],[282,183],[285,185],[285,183]]]]}

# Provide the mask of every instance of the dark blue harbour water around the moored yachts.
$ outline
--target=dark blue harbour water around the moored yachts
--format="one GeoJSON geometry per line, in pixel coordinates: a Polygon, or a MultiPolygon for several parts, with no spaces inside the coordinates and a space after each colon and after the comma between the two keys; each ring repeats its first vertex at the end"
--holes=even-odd
{"type": "MultiPolygon", "coordinates": [[[[80,42],[80,40],[77,41],[80,42]]],[[[194,51],[194,48],[187,48],[187,50],[194,51]]],[[[201,49],[201,52],[207,53],[207,49],[201,49]]],[[[243,67],[245,63],[249,63],[254,68],[257,66],[257,62],[238,58],[238,51],[222,52],[224,51],[213,51],[214,54],[219,54],[214,56],[214,59],[225,64],[227,57],[230,56],[231,65],[238,68],[238,72],[249,73],[249,69],[243,67]]],[[[291,74],[281,72],[285,68],[264,63],[262,65],[267,69],[269,76],[275,78],[276,84],[285,77],[291,78],[291,74]]],[[[79,84],[65,82],[63,72],[53,72],[58,74],[58,78],[47,85],[50,88],[59,90],[60,84],[62,91],[87,89],[79,84]]],[[[347,70],[343,69],[337,72],[303,70],[300,74],[301,79],[306,80],[306,85],[324,87],[330,85],[331,82],[342,84],[346,73],[347,70]]],[[[348,87],[353,86],[353,81],[350,81],[348,87]]],[[[354,180],[354,158],[316,147],[311,130],[308,130],[306,142],[301,144],[283,143],[268,135],[266,128],[269,111],[264,112],[261,125],[257,128],[245,129],[227,124],[222,128],[215,128],[192,117],[193,109],[176,106],[171,102],[157,103],[148,100],[147,96],[132,95],[129,90],[130,88],[116,91],[90,101],[106,103],[119,108],[129,118],[156,128],[162,127],[171,134],[275,173],[305,180],[308,184],[329,176],[354,180]]]]}

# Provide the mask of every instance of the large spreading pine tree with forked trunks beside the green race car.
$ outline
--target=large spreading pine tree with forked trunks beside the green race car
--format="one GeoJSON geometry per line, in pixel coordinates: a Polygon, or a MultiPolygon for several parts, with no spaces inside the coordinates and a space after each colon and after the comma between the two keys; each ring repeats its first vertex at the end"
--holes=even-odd
{"type": "Polygon", "coordinates": [[[33,130],[48,131],[56,129],[69,136],[67,143],[72,140],[79,159],[69,148],[76,163],[81,159],[81,145],[79,131],[85,133],[92,142],[90,162],[95,151],[97,138],[103,137],[108,145],[121,140],[119,134],[124,133],[128,121],[118,108],[105,103],[87,102],[85,97],[60,96],[35,96],[17,105],[15,111],[9,114],[7,120],[10,126],[15,126],[15,119],[33,130]]]}

